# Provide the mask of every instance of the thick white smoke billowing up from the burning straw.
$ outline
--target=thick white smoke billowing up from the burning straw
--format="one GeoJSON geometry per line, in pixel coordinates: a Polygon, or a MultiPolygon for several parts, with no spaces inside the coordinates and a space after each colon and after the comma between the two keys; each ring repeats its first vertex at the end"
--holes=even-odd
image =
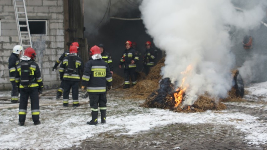
{"type": "Polygon", "coordinates": [[[184,105],[193,104],[207,91],[226,97],[232,87],[231,26],[249,30],[265,15],[261,5],[237,11],[230,0],[144,0],[139,7],[147,32],[157,47],[166,51],[163,78],[182,83],[184,105]],[[192,65],[192,70],[181,74],[192,65]]]}

